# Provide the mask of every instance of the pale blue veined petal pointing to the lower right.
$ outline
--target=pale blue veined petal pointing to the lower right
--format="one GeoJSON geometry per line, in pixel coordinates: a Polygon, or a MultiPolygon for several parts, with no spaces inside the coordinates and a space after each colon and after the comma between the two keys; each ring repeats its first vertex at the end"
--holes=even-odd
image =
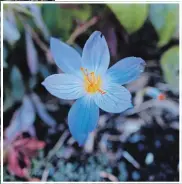
{"type": "Polygon", "coordinates": [[[119,84],[109,83],[103,87],[105,94],[94,95],[95,103],[104,111],[121,113],[133,107],[130,92],[119,84]]]}

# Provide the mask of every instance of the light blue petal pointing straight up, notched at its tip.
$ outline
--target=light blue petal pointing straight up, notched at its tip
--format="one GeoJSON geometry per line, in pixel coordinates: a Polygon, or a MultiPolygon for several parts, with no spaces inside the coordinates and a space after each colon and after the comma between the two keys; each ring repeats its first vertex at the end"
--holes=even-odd
{"type": "Polygon", "coordinates": [[[87,40],[82,55],[82,65],[96,74],[104,74],[110,61],[107,42],[101,32],[95,31],[87,40]]]}

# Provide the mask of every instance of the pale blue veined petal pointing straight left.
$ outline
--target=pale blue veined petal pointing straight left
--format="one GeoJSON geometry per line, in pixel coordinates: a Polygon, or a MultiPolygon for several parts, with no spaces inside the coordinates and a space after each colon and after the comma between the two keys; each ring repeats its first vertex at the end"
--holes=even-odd
{"type": "Polygon", "coordinates": [[[73,100],[85,95],[83,81],[71,74],[50,75],[42,84],[58,98],[73,100]]]}

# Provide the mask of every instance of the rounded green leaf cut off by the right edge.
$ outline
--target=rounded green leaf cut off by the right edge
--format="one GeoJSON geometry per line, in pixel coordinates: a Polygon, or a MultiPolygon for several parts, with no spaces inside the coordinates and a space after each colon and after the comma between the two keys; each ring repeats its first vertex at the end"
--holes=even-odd
{"type": "Polygon", "coordinates": [[[179,91],[179,47],[174,46],[161,57],[161,67],[166,82],[174,93],[179,91]]]}

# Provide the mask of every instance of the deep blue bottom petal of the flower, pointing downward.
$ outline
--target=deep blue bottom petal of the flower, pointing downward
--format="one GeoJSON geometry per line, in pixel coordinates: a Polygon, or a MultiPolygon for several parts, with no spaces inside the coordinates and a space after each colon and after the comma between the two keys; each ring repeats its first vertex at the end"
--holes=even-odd
{"type": "Polygon", "coordinates": [[[78,99],[68,114],[68,125],[74,139],[83,145],[89,132],[92,132],[99,120],[99,108],[94,100],[85,96],[78,99]]]}

